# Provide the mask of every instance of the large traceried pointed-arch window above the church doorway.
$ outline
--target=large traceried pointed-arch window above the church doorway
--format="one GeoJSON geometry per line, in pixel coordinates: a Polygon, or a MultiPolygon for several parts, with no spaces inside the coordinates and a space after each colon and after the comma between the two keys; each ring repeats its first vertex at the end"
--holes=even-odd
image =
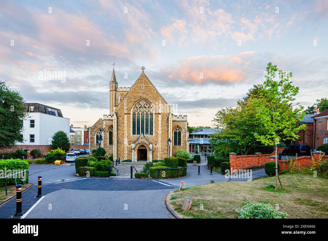
{"type": "Polygon", "coordinates": [[[132,108],[132,134],[153,135],[154,111],[152,105],[141,99],[132,108]]]}

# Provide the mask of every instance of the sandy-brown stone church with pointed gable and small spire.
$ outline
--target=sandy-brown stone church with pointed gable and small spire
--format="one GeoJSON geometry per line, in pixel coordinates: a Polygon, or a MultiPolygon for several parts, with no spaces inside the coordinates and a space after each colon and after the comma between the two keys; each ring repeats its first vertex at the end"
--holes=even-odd
{"type": "Polygon", "coordinates": [[[132,87],[118,87],[113,69],[109,84],[109,114],[89,131],[90,150],[101,147],[114,160],[163,160],[175,151],[188,151],[187,116],[174,115],[169,105],[144,73],[132,87]],[[169,147],[168,139],[172,140],[169,147]]]}

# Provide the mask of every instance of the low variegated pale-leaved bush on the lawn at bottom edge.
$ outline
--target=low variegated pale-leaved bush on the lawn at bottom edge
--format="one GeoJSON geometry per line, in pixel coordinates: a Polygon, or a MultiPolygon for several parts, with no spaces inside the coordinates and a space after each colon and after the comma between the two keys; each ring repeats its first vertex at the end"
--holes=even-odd
{"type": "Polygon", "coordinates": [[[287,218],[288,214],[275,210],[268,203],[249,203],[244,205],[240,210],[238,218],[287,218]]]}

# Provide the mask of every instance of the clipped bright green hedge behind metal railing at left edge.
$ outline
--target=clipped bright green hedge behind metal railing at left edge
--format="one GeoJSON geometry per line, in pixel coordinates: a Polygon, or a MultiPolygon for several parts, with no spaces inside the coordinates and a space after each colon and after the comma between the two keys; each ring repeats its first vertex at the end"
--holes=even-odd
{"type": "MultiPolygon", "coordinates": [[[[5,170],[5,168],[7,169],[7,173],[3,173],[7,175],[10,174],[14,174],[16,172],[20,172],[23,170],[29,170],[29,163],[27,161],[23,161],[22,159],[1,159],[0,160],[0,170],[5,170]],[[8,171],[11,170],[11,173],[8,173],[8,171]],[[14,171],[16,170],[16,171],[14,171]]],[[[16,181],[17,184],[23,184],[22,178],[17,178],[19,177],[18,175],[21,175],[21,173],[17,174],[16,176],[16,181]]],[[[24,172],[23,172],[24,175],[24,172]]],[[[5,175],[4,175],[5,176],[5,175]]],[[[29,175],[28,175],[28,171],[26,172],[26,177],[24,176],[25,183],[28,183],[29,181],[29,175]]],[[[7,185],[10,184],[15,184],[15,178],[7,178],[7,185]]],[[[0,179],[0,187],[5,186],[5,179],[1,178],[0,179]]]]}

